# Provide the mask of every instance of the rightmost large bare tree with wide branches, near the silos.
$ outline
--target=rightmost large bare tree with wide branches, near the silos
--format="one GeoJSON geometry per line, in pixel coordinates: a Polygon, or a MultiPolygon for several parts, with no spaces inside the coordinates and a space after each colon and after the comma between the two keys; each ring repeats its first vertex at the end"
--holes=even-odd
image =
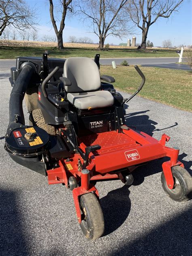
{"type": "Polygon", "coordinates": [[[149,27],[158,18],[169,18],[174,11],[178,11],[183,0],[130,0],[128,13],[132,21],[142,30],[141,48],[146,48],[149,27]]]}

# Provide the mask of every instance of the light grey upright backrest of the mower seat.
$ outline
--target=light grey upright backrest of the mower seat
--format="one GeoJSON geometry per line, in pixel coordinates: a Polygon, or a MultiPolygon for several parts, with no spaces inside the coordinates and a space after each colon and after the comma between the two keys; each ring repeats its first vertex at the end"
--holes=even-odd
{"type": "Polygon", "coordinates": [[[66,59],[63,76],[71,81],[71,85],[65,87],[67,92],[96,91],[101,86],[98,66],[90,58],[71,57],[66,59]]]}

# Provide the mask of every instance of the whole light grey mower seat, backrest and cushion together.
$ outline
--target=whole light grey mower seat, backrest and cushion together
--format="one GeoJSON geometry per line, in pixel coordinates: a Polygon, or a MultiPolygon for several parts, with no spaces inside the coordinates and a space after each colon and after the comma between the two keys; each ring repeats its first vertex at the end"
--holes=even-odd
{"type": "Polygon", "coordinates": [[[64,63],[64,77],[71,81],[66,86],[67,99],[78,109],[109,107],[114,98],[109,91],[101,91],[97,64],[90,58],[72,57],[64,63]]]}

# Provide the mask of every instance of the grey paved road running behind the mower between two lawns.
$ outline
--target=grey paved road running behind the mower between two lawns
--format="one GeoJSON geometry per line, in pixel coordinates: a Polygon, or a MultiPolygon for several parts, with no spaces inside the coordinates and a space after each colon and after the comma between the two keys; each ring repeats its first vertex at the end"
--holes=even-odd
{"type": "MultiPolygon", "coordinates": [[[[178,61],[178,58],[114,58],[114,59],[100,59],[100,64],[111,65],[111,62],[115,60],[115,63],[119,65],[123,60],[126,60],[130,65],[144,65],[144,64],[168,64],[178,61]]],[[[15,66],[14,60],[0,60],[0,69],[7,70],[15,66]]]]}

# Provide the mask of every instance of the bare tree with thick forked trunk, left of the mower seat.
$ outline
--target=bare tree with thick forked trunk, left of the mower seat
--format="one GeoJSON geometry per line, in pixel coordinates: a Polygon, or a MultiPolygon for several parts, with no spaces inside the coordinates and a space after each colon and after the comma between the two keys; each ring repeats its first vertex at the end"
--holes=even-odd
{"type": "Polygon", "coordinates": [[[55,30],[55,34],[58,39],[58,48],[59,49],[64,49],[64,47],[63,47],[63,30],[65,27],[65,18],[66,18],[67,11],[68,10],[72,11],[71,2],[72,2],[72,0],[60,0],[60,5],[62,6],[62,17],[61,17],[61,21],[60,21],[60,29],[58,30],[58,27],[56,25],[56,20],[54,17],[54,13],[53,13],[53,0],[49,0],[49,4],[50,4],[49,13],[50,13],[50,17],[51,17],[51,22],[53,24],[53,28],[55,30]]]}

